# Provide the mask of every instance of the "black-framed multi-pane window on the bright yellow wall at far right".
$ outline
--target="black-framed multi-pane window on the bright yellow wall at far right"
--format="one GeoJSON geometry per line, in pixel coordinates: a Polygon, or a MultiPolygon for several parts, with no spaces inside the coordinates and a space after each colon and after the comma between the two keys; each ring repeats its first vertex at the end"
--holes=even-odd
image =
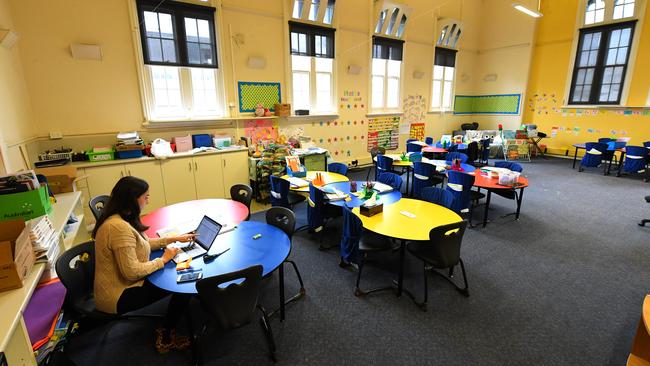
{"type": "Polygon", "coordinates": [[[636,22],[580,30],[572,104],[619,104],[636,22]]]}

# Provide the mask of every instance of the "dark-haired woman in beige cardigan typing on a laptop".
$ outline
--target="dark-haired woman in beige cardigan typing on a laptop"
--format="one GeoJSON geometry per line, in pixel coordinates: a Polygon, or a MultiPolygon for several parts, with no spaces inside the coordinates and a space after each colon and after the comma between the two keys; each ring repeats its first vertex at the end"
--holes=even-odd
{"type": "MultiPolygon", "coordinates": [[[[97,220],[95,238],[95,304],[98,310],[124,314],[150,305],[168,295],[146,280],[172,260],[177,248],[165,248],[160,258],[149,260],[151,250],[175,241],[193,238],[186,234],[172,238],[148,238],[148,229],[140,221],[142,209],[149,203],[149,185],[142,179],[120,179],[97,220]]],[[[190,300],[186,294],[171,294],[163,328],[156,329],[156,350],[166,353],[184,349],[189,339],[176,334],[175,327],[190,300]]]]}

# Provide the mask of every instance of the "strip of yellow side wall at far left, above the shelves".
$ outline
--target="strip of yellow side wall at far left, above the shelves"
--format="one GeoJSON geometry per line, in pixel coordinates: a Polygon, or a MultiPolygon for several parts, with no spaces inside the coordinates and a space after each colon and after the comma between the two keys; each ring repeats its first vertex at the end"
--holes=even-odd
{"type": "MultiPolygon", "coordinates": [[[[16,29],[8,0],[0,0],[0,29],[16,29]]],[[[11,49],[0,47],[0,156],[3,157],[0,173],[23,168],[18,146],[34,134],[31,103],[20,59],[21,41],[11,49]]]]}

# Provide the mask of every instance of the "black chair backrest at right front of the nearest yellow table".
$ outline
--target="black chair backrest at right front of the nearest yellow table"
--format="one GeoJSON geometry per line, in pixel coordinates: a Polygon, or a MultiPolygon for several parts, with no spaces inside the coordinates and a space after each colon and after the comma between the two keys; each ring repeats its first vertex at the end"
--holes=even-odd
{"type": "Polygon", "coordinates": [[[438,226],[429,232],[430,245],[421,249],[425,257],[432,258],[440,268],[451,268],[460,260],[460,244],[467,228],[467,221],[438,226]]]}

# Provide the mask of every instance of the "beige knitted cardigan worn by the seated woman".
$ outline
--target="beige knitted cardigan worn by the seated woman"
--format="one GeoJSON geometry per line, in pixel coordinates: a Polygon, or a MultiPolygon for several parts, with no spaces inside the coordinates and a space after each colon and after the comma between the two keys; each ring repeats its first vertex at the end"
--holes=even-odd
{"type": "Polygon", "coordinates": [[[149,260],[151,250],[160,249],[165,239],[149,239],[120,215],[112,215],[95,236],[95,306],[115,314],[117,301],[129,287],[142,286],[144,278],[162,269],[161,258],[149,260]]]}

